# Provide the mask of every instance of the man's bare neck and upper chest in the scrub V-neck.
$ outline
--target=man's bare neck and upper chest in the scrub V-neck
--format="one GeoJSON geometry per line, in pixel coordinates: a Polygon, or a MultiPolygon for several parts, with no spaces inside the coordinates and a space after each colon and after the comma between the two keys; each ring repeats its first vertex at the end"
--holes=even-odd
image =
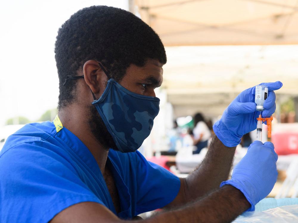
{"type": "Polygon", "coordinates": [[[75,134],[90,150],[94,156],[102,174],[105,172],[105,164],[108,158],[108,148],[98,142],[92,134],[87,113],[88,109],[82,109],[80,106],[72,105],[60,109],[58,112],[59,119],[63,127],[75,134]]]}

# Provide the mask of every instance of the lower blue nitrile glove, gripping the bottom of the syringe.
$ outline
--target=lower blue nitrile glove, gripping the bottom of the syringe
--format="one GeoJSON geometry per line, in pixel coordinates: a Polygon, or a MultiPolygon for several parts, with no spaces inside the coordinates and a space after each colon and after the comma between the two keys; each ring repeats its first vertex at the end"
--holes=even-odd
{"type": "Polygon", "coordinates": [[[254,205],[270,193],[277,180],[276,161],[271,142],[254,141],[233,169],[232,179],[220,187],[229,184],[239,189],[252,205],[247,211],[254,211],[254,205]]]}

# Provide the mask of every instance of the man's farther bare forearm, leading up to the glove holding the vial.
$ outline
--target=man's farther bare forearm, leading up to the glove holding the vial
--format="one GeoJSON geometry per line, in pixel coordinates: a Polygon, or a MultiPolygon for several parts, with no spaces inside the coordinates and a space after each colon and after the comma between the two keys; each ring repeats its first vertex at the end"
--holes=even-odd
{"type": "Polygon", "coordinates": [[[236,147],[226,147],[216,136],[213,137],[206,157],[201,165],[185,178],[185,196],[190,201],[219,188],[227,180],[236,147]]]}

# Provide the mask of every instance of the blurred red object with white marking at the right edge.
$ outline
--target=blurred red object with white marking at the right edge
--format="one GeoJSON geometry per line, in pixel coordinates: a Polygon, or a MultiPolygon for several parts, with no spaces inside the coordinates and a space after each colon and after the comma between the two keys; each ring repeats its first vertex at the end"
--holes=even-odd
{"type": "Polygon", "coordinates": [[[278,155],[298,154],[298,133],[276,133],[271,138],[278,155]]]}

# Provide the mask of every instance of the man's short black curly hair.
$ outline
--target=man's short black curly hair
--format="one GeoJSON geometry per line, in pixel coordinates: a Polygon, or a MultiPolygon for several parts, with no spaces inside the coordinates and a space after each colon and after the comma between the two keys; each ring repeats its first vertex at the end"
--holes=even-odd
{"type": "Polygon", "coordinates": [[[167,62],[164,46],[154,30],[131,12],[108,6],[91,6],[73,14],[58,30],[55,59],[59,76],[58,109],[73,102],[77,76],[87,60],[100,61],[117,81],[131,65],[148,59],[167,62]]]}

